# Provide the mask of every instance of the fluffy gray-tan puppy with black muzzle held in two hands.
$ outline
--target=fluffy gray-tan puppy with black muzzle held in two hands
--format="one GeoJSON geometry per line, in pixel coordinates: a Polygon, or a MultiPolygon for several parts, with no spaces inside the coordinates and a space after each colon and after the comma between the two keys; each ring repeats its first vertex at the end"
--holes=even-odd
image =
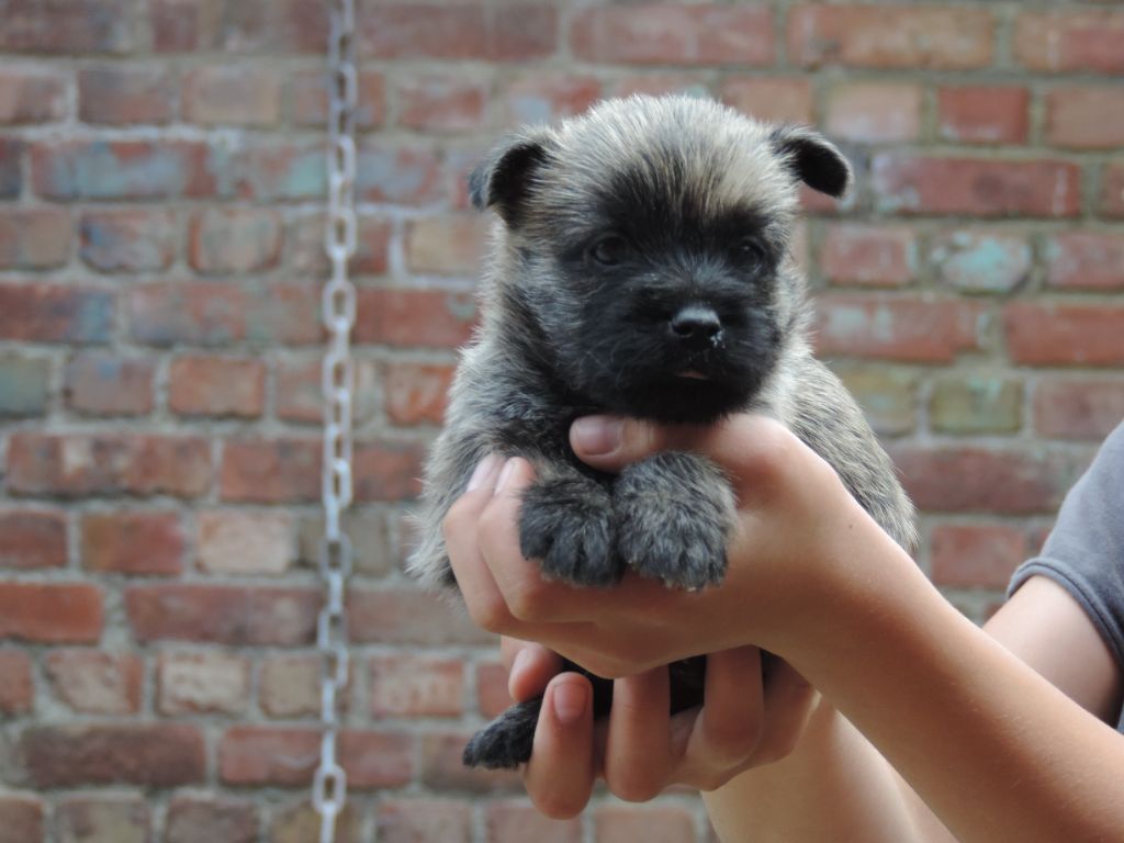
{"type": "MultiPolygon", "coordinates": [[[[671,587],[722,581],[734,522],[706,459],[662,453],[617,475],[584,465],[570,423],[592,413],[713,423],[768,414],[818,452],[904,547],[913,509],[862,413],[808,344],[790,254],[800,183],[843,196],[851,169],[818,134],[688,97],[599,103],[501,142],[470,178],[498,212],[482,324],[463,351],[425,475],[411,571],[454,587],[441,524],[489,453],[536,470],[523,554],[547,577],[606,587],[626,569],[671,587]]],[[[695,659],[673,665],[676,710],[701,701],[695,659]]],[[[595,679],[595,711],[611,682],[595,679]]],[[[541,700],[470,742],[466,764],[531,756],[541,700]]]]}

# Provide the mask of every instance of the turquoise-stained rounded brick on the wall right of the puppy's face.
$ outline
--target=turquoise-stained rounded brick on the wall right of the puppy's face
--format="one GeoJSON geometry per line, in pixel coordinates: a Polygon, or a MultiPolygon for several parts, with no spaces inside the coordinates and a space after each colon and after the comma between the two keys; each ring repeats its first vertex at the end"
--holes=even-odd
{"type": "Polygon", "coordinates": [[[1025,234],[970,229],[943,232],[930,257],[941,281],[966,292],[1010,292],[1030,278],[1034,255],[1025,234]]]}

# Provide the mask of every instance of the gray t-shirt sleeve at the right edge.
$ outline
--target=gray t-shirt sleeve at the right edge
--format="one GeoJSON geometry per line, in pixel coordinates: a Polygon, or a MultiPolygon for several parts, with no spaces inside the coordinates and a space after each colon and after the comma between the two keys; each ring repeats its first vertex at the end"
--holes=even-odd
{"type": "Polygon", "coordinates": [[[1070,489],[1042,552],[1015,571],[1007,595],[1036,574],[1073,596],[1124,669],[1124,424],[1070,489]]]}

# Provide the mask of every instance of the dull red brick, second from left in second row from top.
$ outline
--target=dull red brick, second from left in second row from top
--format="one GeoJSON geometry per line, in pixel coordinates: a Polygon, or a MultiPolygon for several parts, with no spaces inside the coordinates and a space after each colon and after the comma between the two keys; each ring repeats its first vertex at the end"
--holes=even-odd
{"type": "Polygon", "coordinates": [[[83,123],[164,125],[174,114],[175,80],[162,67],[100,65],[78,73],[78,115],[83,123]]]}

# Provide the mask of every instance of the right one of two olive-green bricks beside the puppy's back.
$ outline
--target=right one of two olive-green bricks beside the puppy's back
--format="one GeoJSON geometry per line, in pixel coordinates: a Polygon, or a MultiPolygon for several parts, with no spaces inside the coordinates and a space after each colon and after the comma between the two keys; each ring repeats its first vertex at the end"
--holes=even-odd
{"type": "Polygon", "coordinates": [[[1023,426],[1022,381],[977,373],[941,378],[928,417],[940,433],[1015,433],[1023,426]]]}

